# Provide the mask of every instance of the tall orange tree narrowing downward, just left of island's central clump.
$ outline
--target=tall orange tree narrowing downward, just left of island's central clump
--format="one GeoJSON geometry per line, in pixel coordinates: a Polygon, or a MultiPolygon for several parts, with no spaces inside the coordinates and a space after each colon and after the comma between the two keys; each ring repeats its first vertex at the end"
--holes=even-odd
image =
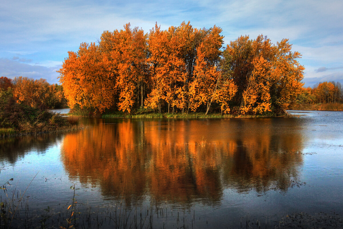
{"type": "Polygon", "coordinates": [[[138,27],[131,29],[130,23],[120,31],[105,31],[100,38],[99,49],[106,57],[106,68],[115,83],[118,109],[130,113],[135,102],[143,106],[149,74],[147,35],[144,31],[138,27]]]}

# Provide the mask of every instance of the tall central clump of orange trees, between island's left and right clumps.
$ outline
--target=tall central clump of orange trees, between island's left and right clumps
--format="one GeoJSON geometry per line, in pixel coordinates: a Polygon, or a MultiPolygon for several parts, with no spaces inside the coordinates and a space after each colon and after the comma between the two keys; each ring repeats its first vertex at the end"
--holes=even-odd
{"type": "MultiPolygon", "coordinates": [[[[182,22],[166,31],[155,25],[149,34],[152,91],[146,105],[161,111],[161,104],[195,111],[201,104],[209,110],[220,79],[218,63],[223,44],[222,29],[197,29],[182,22]],[[152,107],[152,106],[150,106],[152,107]]],[[[207,112],[206,112],[207,113],[207,112]]]]}

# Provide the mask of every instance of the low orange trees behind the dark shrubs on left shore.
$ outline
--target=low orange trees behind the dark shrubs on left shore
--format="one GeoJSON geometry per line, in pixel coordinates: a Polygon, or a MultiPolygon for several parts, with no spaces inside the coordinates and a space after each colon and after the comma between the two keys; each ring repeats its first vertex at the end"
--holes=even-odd
{"type": "Polygon", "coordinates": [[[49,84],[45,79],[19,76],[12,80],[2,76],[0,91],[1,96],[8,91],[17,103],[31,107],[62,108],[67,105],[62,85],[49,84]]]}

